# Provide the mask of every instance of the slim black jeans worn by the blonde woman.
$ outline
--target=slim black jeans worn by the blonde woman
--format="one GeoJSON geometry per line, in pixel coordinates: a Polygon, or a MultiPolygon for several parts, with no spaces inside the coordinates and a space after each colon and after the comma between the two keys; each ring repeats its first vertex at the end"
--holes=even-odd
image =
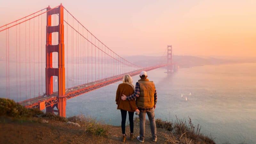
{"type": "MultiPolygon", "coordinates": [[[[133,133],[133,115],[134,115],[134,112],[128,111],[128,114],[129,114],[129,122],[130,122],[130,131],[131,131],[131,133],[133,133]]],[[[127,111],[121,109],[121,116],[122,116],[121,127],[122,127],[122,133],[123,134],[125,134],[126,115],[127,115],[127,111]]]]}

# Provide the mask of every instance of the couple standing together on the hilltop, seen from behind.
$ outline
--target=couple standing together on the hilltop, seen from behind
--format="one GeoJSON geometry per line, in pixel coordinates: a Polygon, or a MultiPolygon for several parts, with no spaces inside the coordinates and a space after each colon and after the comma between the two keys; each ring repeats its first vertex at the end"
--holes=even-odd
{"type": "Polygon", "coordinates": [[[137,139],[140,142],[144,142],[145,138],[145,121],[146,113],[150,122],[150,129],[153,137],[153,141],[156,142],[156,122],[155,122],[155,108],[156,108],[156,88],[155,84],[152,81],[147,79],[147,72],[140,72],[140,80],[136,83],[135,92],[134,85],[132,84],[132,77],[125,75],[123,83],[118,85],[116,91],[116,104],[117,109],[121,110],[122,116],[122,133],[123,133],[123,142],[126,139],[125,134],[125,121],[127,111],[129,114],[130,121],[130,138],[133,137],[133,115],[134,111],[139,113],[140,117],[140,136],[137,139]],[[136,99],[136,101],[135,101],[136,99]]]}

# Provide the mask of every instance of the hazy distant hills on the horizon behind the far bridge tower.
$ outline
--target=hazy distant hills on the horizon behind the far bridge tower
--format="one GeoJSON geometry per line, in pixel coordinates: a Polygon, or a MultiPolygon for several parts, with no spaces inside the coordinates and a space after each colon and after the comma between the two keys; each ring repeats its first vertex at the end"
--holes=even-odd
{"type": "MultiPolygon", "coordinates": [[[[140,66],[154,66],[160,64],[162,61],[166,60],[166,57],[160,56],[128,56],[125,57],[128,61],[131,61],[140,66]]],[[[174,55],[173,62],[179,64],[182,67],[194,67],[194,66],[203,66],[203,65],[217,65],[217,64],[226,64],[226,63],[251,63],[256,62],[256,58],[213,58],[213,57],[196,57],[196,56],[180,56],[174,55]]]]}

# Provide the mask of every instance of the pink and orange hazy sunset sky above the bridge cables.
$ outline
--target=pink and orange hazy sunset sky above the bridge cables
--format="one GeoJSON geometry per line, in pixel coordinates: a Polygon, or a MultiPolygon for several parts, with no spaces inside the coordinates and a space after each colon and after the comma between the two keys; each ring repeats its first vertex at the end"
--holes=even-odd
{"type": "Polygon", "coordinates": [[[1,0],[0,25],[60,3],[122,56],[256,55],[255,0],[1,0]]]}

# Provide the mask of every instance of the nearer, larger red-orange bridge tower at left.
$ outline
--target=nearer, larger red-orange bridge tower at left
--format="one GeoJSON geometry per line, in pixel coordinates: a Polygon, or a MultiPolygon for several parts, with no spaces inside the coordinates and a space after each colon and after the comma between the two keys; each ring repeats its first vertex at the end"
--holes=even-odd
{"type": "Polygon", "coordinates": [[[51,10],[47,8],[46,23],[46,67],[45,67],[45,89],[46,95],[53,94],[53,76],[58,76],[58,104],[46,107],[46,112],[58,112],[60,116],[66,117],[66,97],[65,97],[65,63],[64,63],[64,25],[63,6],[51,10]],[[52,15],[59,15],[59,25],[52,26],[52,15]],[[58,44],[52,45],[52,33],[58,32],[58,44]],[[58,68],[52,67],[52,52],[58,53],[58,68]],[[56,107],[58,110],[54,110],[56,107]]]}

